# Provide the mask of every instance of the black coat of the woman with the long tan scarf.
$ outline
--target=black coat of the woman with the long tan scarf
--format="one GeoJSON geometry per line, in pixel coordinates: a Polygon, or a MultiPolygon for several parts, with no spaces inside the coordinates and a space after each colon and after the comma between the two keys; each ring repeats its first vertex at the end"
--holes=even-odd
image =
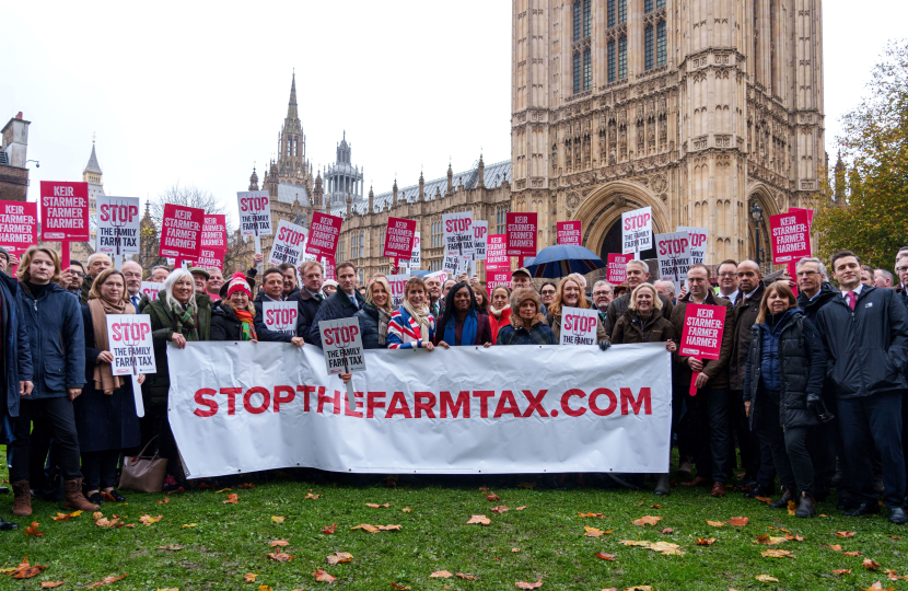
{"type": "Polygon", "coordinates": [[[79,433],[79,451],[97,452],[124,450],[139,444],[139,417],[132,397],[132,379],[123,376],[123,386],[107,395],[94,386],[94,368],[97,364],[92,312],[82,306],[82,326],[85,329],[85,386],[72,403],[75,413],[75,430],[79,433]]]}

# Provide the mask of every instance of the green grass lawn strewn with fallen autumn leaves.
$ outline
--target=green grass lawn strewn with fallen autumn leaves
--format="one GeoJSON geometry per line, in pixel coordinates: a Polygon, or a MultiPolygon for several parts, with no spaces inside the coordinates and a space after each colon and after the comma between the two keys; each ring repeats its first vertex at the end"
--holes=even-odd
{"type": "MultiPolygon", "coordinates": [[[[371,485],[327,480],[263,482],[246,479],[254,488],[232,486],[229,493],[196,490],[140,495],[125,493],[127,503],[105,503],[107,519],[124,515],[135,528],[105,529],[83,513],[69,521],[54,521],[60,507],[42,500],[33,503],[30,520],[18,519],[20,529],[0,534],[5,567],[15,567],[23,556],[32,565],[48,565],[40,575],[15,580],[0,575],[0,589],[39,589],[42,581],[65,581],[58,589],[84,589],[105,577],[128,576],[103,589],[240,589],[267,591],[293,589],[479,590],[515,589],[517,581],[535,582],[540,589],[601,590],[652,586],[653,590],[737,589],[866,589],[875,581],[883,588],[908,589],[908,581],[892,582],[885,569],[908,575],[908,544],[894,536],[908,536],[908,529],[892,525],[883,517],[846,518],[831,502],[820,503],[828,518],[803,520],[785,510],[745,499],[730,493],[712,499],[707,489],[675,488],[670,497],[657,498],[649,488],[641,491],[606,490],[597,487],[567,491],[545,487],[542,478],[487,479],[468,477],[439,483],[414,482],[403,477],[395,488],[377,477],[371,485]],[[515,485],[536,483],[534,488],[515,485]],[[443,485],[442,485],[443,484],[443,485]],[[480,491],[480,486],[490,488],[480,491]],[[306,499],[312,489],[321,495],[306,499]],[[494,493],[500,500],[489,501],[494,493]],[[224,503],[237,494],[236,503],[224,503]],[[365,503],[391,503],[373,509],[365,503]],[[507,506],[499,514],[496,506],[507,506]],[[651,507],[660,505],[659,508],[651,507]],[[525,509],[517,511],[519,507],[525,509]],[[409,508],[409,510],[405,509],[409,508]],[[605,517],[579,517],[578,512],[605,517]],[[160,522],[143,525],[140,517],[162,515],[160,522]],[[484,514],[491,524],[467,524],[474,514],[484,514]],[[656,525],[635,525],[643,515],[662,519],[656,525]],[[283,518],[273,520],[272,517],[283,518]],[[727,521],[747,517],[744,526],[717,528],[707,520],[727,521]],[[36,521],[40,537],[23,530],[36,521]],[[322,529],[337,524],[336,533],[322,529]],[[354,525],[399,524],[399,531],[369,533],[354,525]],[[194,524],[193,526],[187,526],[194,524]],[[607,531],[598,537],[584,535],[584,526],[607,531]],[[671,529],[670,533],[662,533],[671,529]],[[758,535],[782,537],[791,534],[803,541],[784,541],[766,546],[758,535]],[[855,532],[836,537],[835,532],[855,532]],[[697,538],[715,538],[698,546],[697,538]],[[289,545],[271,547],[286,540],[289,545]],[[621,541],[670,542],[684,555],[663,555],[621,541]],[[827,546],[839,544],[841,552],[827,546]],[[177,545],[178,549],[159,549],[177,545]],[[519,548],[519,549],[516,549],[519,548]],[[790,551],[792,557],[761,556],[767,549],[790,551]],[[267,554],[283,551],[293,556],[277,563],[267,554]],[[846,556],[859,551],[862,556],[846,556]],[[335,552],[353,556],[347,564],[328,566],[335,552]],[[615,555],[609,561],[596,553],[615,555]],[[868,570],[870,558],[881,566],[868,570]],[[324,568],[337,577],[333,583],[317,582],[313,572],[324,568]],[[834,569],[851,569],[837,576],[834,569]],[[470,573],[475,580],[430,578],[433,571],[470,573]],[[245,582],[246,573],[255,582],[245,582]],[[778,582],[759,582],[769,575],[778,582]],[[259,587],[267,586],[267,587],[259,587]]],[[[0,514],[10,518],[12,496],[0,497],[0,514]]]]}

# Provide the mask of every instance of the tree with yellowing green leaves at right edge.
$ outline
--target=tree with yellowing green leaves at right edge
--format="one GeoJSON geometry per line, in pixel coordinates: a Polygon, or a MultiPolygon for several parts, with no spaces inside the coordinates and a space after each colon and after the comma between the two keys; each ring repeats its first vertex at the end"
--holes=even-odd
{"type": "Polygon", "coordinates": [[[869,96],[842,117],[841,157],[813,221],[819,255],[858,253],[892,270],[908,245],[908,42],[890,43],[874,67],[869,96]]]}

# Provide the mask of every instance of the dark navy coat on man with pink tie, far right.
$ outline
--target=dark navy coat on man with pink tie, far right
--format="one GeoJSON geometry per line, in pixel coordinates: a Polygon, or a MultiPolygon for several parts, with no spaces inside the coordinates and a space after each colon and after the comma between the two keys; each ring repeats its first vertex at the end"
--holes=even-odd
{"type": "Polygon", "coordinates": [[[816,324],[838,398],[908,389],[908,310],[894,290],[864,286],[853,312],[845,298],[833,298],[816,324]]]}

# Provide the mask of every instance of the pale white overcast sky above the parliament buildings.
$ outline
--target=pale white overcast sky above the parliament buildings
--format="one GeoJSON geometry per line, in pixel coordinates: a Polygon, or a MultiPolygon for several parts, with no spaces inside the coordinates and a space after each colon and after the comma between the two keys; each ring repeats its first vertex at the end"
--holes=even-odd
{"type": "MultiPolygon", "coordinates": [[[[830,159],[838,118],[908,16],[906,2],[861,5],[873,10],[823,2],[830,159]]],[[[306,158],[334,162],[346,129],[376,194],[395,174],[415,184],[421,166],[444,176],[449,158],[466,170],[480,149],[487,163],[510,159],[510,1],[211,7],[2,3],[0,125],[19,111],[32,121],[31,200],[40,179],[81,179],[97,134],[108,195],[179,182],[235,204],[277,150],[294,68],[306,158]]]]}

